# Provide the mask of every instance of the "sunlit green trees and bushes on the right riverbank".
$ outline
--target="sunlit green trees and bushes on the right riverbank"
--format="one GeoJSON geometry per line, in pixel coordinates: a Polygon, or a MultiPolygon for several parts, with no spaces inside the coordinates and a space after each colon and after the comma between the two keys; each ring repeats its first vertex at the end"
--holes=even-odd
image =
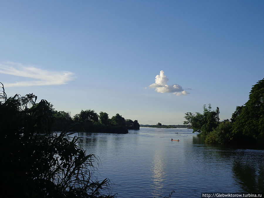
{"type": "Polygon", "coordinates": [[[264,78],[253,85],[249,99],[237,106],[231,120],[219,121],[219,108],[204,105],[203,114],[187,112],[184,124],[204,136],[207,143],[264,145],[264,78]]]}

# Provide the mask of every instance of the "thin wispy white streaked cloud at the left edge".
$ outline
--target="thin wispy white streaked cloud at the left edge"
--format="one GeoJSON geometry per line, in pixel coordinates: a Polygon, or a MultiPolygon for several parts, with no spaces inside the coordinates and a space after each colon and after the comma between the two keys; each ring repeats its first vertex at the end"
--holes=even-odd
{"type": "Polygon", "coordinates": [[[26,66],[16,62],[0,63],[0,73],[27,77],[34,80],[5,83],[5,87],[28,87],[67,84],[74,79],[74,74],[67,71],[48,71],[35,66],[26,66]]]}

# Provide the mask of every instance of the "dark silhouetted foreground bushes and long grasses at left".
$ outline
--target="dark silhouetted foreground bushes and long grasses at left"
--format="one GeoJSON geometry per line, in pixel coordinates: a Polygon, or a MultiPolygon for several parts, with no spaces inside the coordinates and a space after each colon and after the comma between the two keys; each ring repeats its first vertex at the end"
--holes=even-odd
{"type": "Polygon", "coordinates": [[[80,148],[79,138],[52,132],[54,112],[46,100],[35,104],[33,94],[7,98],[2,88],[1,197],[115,197],[102,191],[109,180],[95,179],[99,161],[80,148]]]}

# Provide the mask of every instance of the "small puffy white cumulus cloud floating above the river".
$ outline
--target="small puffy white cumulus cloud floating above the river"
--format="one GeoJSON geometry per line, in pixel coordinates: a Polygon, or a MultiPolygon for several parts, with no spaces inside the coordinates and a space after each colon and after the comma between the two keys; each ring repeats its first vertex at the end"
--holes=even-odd
{"type": "Polygon", "coordinates": [[[155,77],[155,83],[149,87],[155,88],[155,91],[159,93],[173,93],[177,96],[189,94],[179,84],[167,85],[168,81],[169,79],[165,76],[164,71],[161,70],[160,75],[156,75],[155,77]]]}

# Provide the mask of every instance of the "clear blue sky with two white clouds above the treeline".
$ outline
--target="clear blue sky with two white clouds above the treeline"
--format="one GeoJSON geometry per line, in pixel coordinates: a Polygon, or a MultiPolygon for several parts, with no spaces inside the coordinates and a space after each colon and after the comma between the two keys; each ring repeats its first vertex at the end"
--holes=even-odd
{"type": "Polygon", "coordinates": [[[0,82],[8,96],[33,92],[72,116],[182,124],[211,103],[227,119],[264,77],[263,10],[242,0],[0,1],[0,82]]]}

